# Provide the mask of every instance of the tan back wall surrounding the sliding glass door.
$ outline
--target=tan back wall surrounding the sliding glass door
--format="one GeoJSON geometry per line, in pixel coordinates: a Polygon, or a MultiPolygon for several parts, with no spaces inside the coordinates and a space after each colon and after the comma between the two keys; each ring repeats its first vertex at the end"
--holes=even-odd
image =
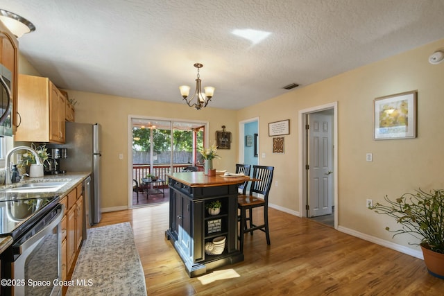
{"type": "MultiPolygon", "coordinates": [[[[85,92],[68,91],[69,98],[78,101],[76,105],[76,122],[101,123],[102,125],[102,196],[103,208],[128,205],[128,115],[153,116],[165,119],[204,121],[210,123],[210,144],[215,141],[216,130],[232,132],[232,146],[237,146],[236,113],[207,107],[195,110],[185,104],[160,103],[157,101],[121,98],[85,92]],[[123,159],[119,159],[123,153],[123,159]]],[[[178,101],[180,102],[178,95],[178,101]]],[[[218,169],[234,171],[237,150],[219,150],[221,159],[213,164],[218,169]]]]}

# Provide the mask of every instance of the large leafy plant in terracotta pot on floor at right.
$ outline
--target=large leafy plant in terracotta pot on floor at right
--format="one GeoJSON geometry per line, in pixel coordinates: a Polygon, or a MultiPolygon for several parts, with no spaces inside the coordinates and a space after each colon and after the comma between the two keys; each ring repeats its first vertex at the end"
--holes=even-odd
{"type": "Polygon", "coordinates": [[[395,218],[401,228],[391,230],[393,236],[411,234],[420,243],[424,262],[431,275],[444,279],[444,190],[432,190],[429,193],[419,189],[416,193],[404,193],[395,201],[384,200],[388,204],[376,203],[368,209],[378,214],[395,218]]]}

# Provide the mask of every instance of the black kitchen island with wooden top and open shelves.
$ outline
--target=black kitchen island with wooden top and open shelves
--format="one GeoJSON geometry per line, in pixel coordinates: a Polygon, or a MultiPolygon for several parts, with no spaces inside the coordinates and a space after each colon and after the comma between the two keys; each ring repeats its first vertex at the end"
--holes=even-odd
{"type": "Polygon", "coordinates": [[[244,261],[237,246],[237,187],[245,177],[208,176],[203,172],[171,173],[169,177],[169,229],[165,236],[185,263],[189,277],[223,265],[244,261]],[[221,202],[219,214],[206,209],[221,202]],[[205,252],[205,244],[225,236],[221,254],[205,252]]]}

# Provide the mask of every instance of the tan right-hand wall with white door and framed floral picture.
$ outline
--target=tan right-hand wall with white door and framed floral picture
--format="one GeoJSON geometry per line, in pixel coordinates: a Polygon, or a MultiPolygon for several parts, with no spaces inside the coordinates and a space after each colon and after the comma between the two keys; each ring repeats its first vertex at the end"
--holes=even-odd
{"type": "MultiPolygon", "coordinates": [[[[272,187],[270,202],[301,211],[298,112],[338,102],[339,225],[391,241],[384,228],[395,226],[393,221],[366,209],[366,198],[377,202],[384,195],[395,198],[419,187],[429,190],[444,186],[444,62],[428,62],[437,49],[444,49],[444,40],[239,110],[238,121],[260,117],[260,147],[266,158],[259,161],[275,166],[274,180],[279,184],[272,187]],[[415,89],[418,137],[373,140],[373,99],[415,89]],[[285,136],[284,155],[273,155],[268,123],[282,119],[290,119],[291,133],[285,136]],[[366,162],[366,153],[373,153],[373,162],[366,162]]],[[[393,242],[406,245],[407,241],[412,240],[404,236],[393,242]]]]}

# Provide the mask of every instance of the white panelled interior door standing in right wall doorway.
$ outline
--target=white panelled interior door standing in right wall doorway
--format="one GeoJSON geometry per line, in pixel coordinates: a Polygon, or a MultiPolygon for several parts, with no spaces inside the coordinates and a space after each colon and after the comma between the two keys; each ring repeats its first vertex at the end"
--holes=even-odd
{"type": "Polygon", "coordinates": [[[307,216],[332,214],[333,145],[332,116],[308,114],[308,211],[307,216]]]}

